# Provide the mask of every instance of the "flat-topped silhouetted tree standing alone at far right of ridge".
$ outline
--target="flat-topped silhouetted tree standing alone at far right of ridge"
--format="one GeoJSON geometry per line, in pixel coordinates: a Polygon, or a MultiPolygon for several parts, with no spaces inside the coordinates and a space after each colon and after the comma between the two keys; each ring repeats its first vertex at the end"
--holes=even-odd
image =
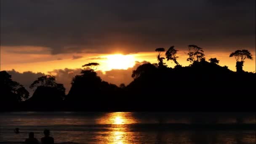
{"type": "Polygon", "coordinates": [[[248,50],[237,50],[235,52],[230,53],[229,57],[235,57],[237,72],[243,72],[243,63],[244,60],[251,59],[253,60],[252,54],[248,50]]]}

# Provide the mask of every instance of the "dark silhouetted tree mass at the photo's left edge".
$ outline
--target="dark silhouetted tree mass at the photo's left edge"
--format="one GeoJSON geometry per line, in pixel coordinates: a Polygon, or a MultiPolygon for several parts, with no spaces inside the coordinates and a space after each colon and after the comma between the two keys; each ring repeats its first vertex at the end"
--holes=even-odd
{"type": "Polygon", "coordinates": [[[11,79],[6,71],[0,71],[0,88],[2,95],[2,102],[13,102],[17,103],[22,100],[26,100],[29,97],[29,92],[24,88],[23,85],[11,79]]]}

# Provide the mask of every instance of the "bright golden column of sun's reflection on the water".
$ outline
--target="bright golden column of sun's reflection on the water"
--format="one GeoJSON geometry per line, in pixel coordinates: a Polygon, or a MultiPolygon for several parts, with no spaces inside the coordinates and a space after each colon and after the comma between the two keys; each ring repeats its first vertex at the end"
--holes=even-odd
{"type": "Polygon", "coordinates": [[[137,120],[131,112],[112,112],[102,116],[98,123],[110,125],[106,133],[108,144],[127,144],[133,139],[128,125],[137,123],[137,120]]]}

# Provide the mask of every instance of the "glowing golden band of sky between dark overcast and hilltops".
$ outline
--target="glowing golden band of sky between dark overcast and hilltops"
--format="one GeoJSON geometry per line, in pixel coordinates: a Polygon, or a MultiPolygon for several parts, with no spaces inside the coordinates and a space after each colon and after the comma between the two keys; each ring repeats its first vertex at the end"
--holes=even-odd
{"type": "MultiPolygon", "coordinates": [[[[179,48],[176,48],[179,50],[179,48]]],[[[208,52],[205,51],[206,60],[217,58],[220,60],[219,65],[228,66],[229,69],[235,71],[235,58],[229,58],[230,52],[208,52]]],[[[187,51],[178,52],[178,62],[182,66],[187,66],[190,63],[186,61],[187,51]]],[[[251,51],[253,60],[245,59],[243,69],[248,72],[255,72],[255,51],[251,51]]],[[[1,47],[0,64],[1,70],[15,69],[18,72],[32,71],[43,72],[47,74],[54,69],[76,69],[82,68],[83,64],[89,62],[97,62],[100,66],[97,70],[109,71],[111,69],[127,69],[133,67],[135,61],[149,61],[157,63],[156,52],[141,52],[134,54],[123,55],[121,53],[64,53],[52,55],[48,48],[43,47],[1,47]],[[22,50],[22,51],[19,51],[22,50]],[[24,52],[25,51],[25,52],[24,52]],[[36,54],[38,51],[38,54],[36,54]],[[31,53],[30,53],[31,52],[31,53]]],[[[163,54],[164,56],[164,54],[163,54]]],[[[172,61],[166,61],[168,67],[174,67],[172,61]]]]}

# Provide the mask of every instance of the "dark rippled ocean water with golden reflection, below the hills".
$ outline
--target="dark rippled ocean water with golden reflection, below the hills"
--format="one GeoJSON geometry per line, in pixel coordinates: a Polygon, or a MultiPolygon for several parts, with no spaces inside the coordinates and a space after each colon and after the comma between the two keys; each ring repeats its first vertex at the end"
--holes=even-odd
{"type": "Polygon", "coordinates": [[[2,112],[0,144],[44,129],[57,144],[255,144],[255,125],[255,113],[2,112]]]}

